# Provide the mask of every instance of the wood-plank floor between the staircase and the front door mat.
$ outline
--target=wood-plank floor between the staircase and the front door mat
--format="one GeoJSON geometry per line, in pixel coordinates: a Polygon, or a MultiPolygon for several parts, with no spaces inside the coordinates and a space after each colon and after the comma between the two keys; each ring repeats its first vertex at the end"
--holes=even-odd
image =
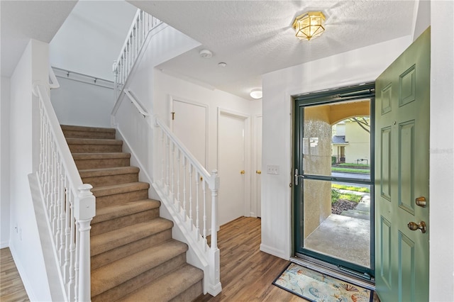
{"type": "Polygon", "coordinates": [[[222,292],[195,301],[305,301],[272,285],[289,262],[260,252],[260,230],[260,218],[241,217],[221,226],[222,292]]]}

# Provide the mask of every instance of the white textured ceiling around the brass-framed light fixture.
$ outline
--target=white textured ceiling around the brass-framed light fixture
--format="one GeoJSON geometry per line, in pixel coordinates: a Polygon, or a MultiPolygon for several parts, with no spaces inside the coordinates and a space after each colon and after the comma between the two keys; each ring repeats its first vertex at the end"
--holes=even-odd
{"type": "Polygon", "coordinates": [[[128,1],[202,45],[160,65],[163,72],[245,99],[261,74],[411,35],[415,1],[128,1]],[[295,16],[323,11],[326,32],[294,37],[295,16]],[[211,59],[199,50],[213,52],[211,59]],[[226,62],[226,67],[218,67],[226,62]]]}

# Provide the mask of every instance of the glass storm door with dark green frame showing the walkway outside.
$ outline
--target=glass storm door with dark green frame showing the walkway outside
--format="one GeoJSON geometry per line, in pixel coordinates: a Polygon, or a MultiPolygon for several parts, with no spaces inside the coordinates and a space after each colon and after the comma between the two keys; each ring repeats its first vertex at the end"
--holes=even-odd
{"type": "Polygon", "coordinates": [[[295,120],[295,245],[358,274],[373,272],[371,99],[298,102],[295,120]]]}

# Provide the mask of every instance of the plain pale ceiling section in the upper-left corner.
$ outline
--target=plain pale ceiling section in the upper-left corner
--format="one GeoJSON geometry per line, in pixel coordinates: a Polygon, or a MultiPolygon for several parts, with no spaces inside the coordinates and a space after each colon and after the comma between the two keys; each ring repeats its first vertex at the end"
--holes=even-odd
{"type": "Polygon", "coordinates": [[[49,43],[76,3],[1,0],[1,76],[11,77],[30,38],[49,43]]]}

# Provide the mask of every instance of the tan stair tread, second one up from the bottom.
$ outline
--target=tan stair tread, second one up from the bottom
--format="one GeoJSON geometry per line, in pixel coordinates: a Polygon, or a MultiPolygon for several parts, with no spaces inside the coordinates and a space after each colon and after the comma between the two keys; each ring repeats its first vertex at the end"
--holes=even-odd
{"type": "Polygon", "coordinates": [[[168,240],[92,271],[92,296],[118,286],[187,251],[187,245],[168,240]]]}

